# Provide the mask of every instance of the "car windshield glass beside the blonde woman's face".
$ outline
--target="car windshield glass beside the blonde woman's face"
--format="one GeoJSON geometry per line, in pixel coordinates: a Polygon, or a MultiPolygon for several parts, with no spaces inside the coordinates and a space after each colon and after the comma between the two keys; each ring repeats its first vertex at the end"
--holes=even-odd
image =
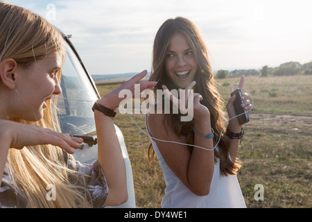
{"type": "Polygon", "coordinates": [[[58,96],[58,117],[62,133],[88,135],[95,132],[92,105],[98,93],[76,54],[67,44],[67,56],[60,80],[62,94],[58,96]]]}

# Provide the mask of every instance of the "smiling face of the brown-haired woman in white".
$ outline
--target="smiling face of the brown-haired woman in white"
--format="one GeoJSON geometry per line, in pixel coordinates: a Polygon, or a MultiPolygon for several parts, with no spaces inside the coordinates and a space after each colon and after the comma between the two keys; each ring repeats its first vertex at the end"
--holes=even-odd
{"type": "Polygon", "coordinates": [[[180,33],[175,33],[166,51],[166,73],[171,81],[184,89],[195,79],[197,61],[187,42],[180,33]]]}

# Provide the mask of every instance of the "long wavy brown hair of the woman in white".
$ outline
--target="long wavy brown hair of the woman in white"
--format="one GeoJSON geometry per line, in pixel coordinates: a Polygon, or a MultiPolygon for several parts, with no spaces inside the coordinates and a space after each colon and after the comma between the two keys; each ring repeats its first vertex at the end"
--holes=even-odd
{"type": "MultiPolygon", "coordinates": [[[[193,54],[198,62],[198,71],[196,73],[196,85],[194,92],[198,92],[202,95],[202,105],[205,105],[210,112],[211,127],[214,129],[214,138],[219,138],[223,129],[223,122],[225,121],[225,113],[223,112],[224,102],[218,93],[214,75],[211,70],[211,64],[209,61],[209,52],[207,46],[203,40],[200,31],[193,22],[184,17],[177,17],[175,19],[168,19],[157,31],[154,46],[153,46],[153,65],[150,74],[151,81],[158,81],[154,88],[155,94],[157,89],[162,89],[162,85],[166,85],[169,90],[175,89],[174,83],[168,78],[166,74],[166,49],[171,37],[175,33],[180,33],[186,39],[193,54]]],[[[194,143],[193,126],[194,121],[182,122],[180,121],[181,114],[165,114],[164,126],[171,126],[173,131],[179,137],[186,138],[187,144],[194,143]]],[[[225,131],[225,130],[223,130],[225,131]]],[[[214,141],[214,145],[218,139],[214,141]]],[[[192,150],[190,146],[190,150],[192,150]]],[[[216,158],[220,160],[220,171],[223,176],[228,174],[236,174],[240,165],[238,162],[232,162],[229,158],[229,137],[221,135],[220,142],[218,144],[218,151],[214,149],[215,161],[216,158]]],[[[155,156],[152,146],[148,149],[149,160],[155,156]]]]}

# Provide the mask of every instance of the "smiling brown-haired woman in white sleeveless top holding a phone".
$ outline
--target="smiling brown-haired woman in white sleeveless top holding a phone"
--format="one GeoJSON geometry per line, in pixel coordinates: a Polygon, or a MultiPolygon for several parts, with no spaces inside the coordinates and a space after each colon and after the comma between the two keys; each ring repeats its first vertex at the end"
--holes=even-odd
{"type": "MultiPolygon", "coordinates": [[[[181,121],[183,115],[174,114],[173,106],[170,114],[157,111],[147,116],[150,135],[162,139],[151,139],[153,149],[150,146],[166,181],[162,207],[245,207],[236,178],[242,125],[232,119],[227,133],[221,135],[225,123],[223,102],[215,87],[205,42],[189,19],[168,19],[157,31],[150,80],[158,82],[155,94],[157,89],[194,89],[191,121],[181,121]],[[211,151],[220,136],[218,146],[211,151]]],[[[241,78],[241,88],[243,82],[241,78]]],[[[169,97],[173,101],[174,97],[169,97]]],[[[227,103],[229,117],[235,116],[235,98],[227,103]]],[[[247,98],[241,98],[245,110],[250,109],[247,98]]]]}

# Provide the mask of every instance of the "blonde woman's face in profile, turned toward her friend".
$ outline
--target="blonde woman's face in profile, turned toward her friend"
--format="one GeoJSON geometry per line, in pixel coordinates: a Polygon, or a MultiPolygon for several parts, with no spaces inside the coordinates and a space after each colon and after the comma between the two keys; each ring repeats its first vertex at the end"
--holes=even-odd
{"type": "Polygon", "coordinates": [[[17,87],[15,117],[28,121],[42,119],[46,103],[53,95],[61,94],[57,73],[62,66],[61,53],[53,53],[42,60],[16,71],[17,87]]]}

